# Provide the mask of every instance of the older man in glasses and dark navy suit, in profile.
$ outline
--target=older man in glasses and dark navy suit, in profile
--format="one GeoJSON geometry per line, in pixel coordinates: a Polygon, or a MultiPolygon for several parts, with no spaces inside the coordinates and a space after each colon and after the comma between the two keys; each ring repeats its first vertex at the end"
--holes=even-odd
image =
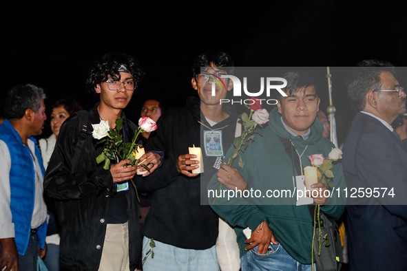
{"type": "Polygon", "coordinates": [[[393,65],[371,60],[348,80],[357,110],[342,162],[351,270],[407,270],[407,151],[390,125],[406,93],[395,77],[393,65]]]}

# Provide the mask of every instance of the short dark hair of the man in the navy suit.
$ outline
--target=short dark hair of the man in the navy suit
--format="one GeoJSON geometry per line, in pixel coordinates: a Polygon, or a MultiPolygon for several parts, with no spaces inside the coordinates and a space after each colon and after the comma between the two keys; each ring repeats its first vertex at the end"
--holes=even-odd
{"type": "Polygon", "coordinates": [[[396,69],[391,63],[377,59],[359,62],[357,67],[351,70],[346,88],[353,109],[362,111],[366,106],[368,91],[378,91],[382,88],[380,80],[382,72],[390,72],[396,77],[396,69]]]}

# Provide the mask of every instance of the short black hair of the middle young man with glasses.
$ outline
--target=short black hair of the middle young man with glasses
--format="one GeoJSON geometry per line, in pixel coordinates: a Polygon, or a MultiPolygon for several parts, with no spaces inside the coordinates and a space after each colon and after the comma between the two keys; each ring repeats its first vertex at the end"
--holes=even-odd
{"type": "Polygon", "coordinates": [[[225,52],[213,52],[213,51],[206,51],[194,58],[194,62],[192,64],[192,75],[195,78],[197,74],[200,74],[201,67],[209,67],[213,63],[216,67],[226,67],[225,71],[227,74],[233,74],[234,72],[234,63],[229,56],[229,54],[225,52]]]}

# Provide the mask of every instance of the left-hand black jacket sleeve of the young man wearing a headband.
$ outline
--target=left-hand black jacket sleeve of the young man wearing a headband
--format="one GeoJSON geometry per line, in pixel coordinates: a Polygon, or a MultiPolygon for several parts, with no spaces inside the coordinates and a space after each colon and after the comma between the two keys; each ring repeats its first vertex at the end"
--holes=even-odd
{"type": "MultiPolygon", "coordinates": [[[[90,126],[88,125],[88,130],[90,126]]],[[[90,193],[112,191],[110,171],[103,169],[103,164],[96,164],[96,156],[101,153],[103,147],[95,146],[97,141],[92,138],[90,131],[87,131],[81,148],[76,173],[72,172],[72,160],[79,136],[77,116],[65,120],[45,173],[44,190],[50,197],[80,199],[90,193]]]]}

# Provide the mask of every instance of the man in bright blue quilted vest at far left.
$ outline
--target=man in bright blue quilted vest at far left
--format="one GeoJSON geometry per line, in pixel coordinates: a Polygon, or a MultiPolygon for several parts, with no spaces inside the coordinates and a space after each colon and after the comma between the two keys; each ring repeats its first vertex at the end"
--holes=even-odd
{"type": "Polygon", "coordinates": [[[0,125],[0,270],[36,270],[46,252],[44,168],[35,135],[45,116],[45,94],[34,85],[7,93],[0,125]]]}

